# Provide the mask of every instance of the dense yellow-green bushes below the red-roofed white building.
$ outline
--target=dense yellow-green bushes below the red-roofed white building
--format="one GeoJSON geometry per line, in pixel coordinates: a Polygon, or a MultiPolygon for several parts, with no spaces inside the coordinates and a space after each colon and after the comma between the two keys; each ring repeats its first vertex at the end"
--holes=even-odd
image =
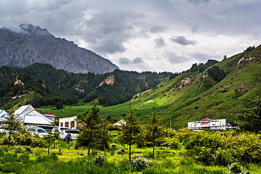
{"type": "Polygon", "coordinates": [[[205,165],[261,162],[261,136],[255,133],[195,133],[184,145],[195,161],[205,165]]]}

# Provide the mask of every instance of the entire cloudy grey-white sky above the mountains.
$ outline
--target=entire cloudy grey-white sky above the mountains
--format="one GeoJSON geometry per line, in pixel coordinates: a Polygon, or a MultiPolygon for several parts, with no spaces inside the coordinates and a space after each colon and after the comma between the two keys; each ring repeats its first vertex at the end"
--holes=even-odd
{"type": "Polygon", "coordinates": [[[261,0],[0,0],[0,27],[33,24],[122,70],[181,72],[261,44],[261,0]]]}

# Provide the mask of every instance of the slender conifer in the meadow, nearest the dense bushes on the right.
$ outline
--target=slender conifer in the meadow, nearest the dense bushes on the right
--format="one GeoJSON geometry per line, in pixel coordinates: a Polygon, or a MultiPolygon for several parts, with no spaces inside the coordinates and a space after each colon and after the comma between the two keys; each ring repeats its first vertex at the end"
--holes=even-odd
{"type": "Polygon", "coordinates": [[[157,115],[157,112],[155,110],[155,106],[152,107],[152,115],[147,115],[148,121],[146,122],[144,126],[144,132],[146,135],[146,140],[153,144],[153,153],[152,157],[154,159],[154,149],[155,149],[155,143],[164,137],[165,135],[165,128],[162,125],[162,119],[159,118],[157,115]]]}

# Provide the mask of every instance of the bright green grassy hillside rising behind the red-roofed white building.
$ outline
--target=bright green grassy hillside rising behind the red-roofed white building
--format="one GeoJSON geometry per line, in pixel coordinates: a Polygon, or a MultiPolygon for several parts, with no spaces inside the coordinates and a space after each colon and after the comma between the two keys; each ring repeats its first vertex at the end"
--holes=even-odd
{"type": "MultiPolygon", "coordinates": [[[[250,54],[244,52],[237,54],[227,60],[216,64],[224,70],[228,76],[220,83],[216,83],[210,77],[205,77],[203,73],[184,73],[176,78],[165,79],[160,85],[140,94],[136,94],[130,103],[138,108],[137,113],[141,119],[145,119],[147,114],[155,106],[159,115],[169,124],[170,117],[175,128],[186,127],[188,121],[199,120],[202,117],[227,118],[228,121],[238,120],[237,113],[240,108],[247,107],[248,98],[255,97],[261,91],[261,46],[257,47],[250,54]],[[248,54],[256,59],[248,61],[237,70],[237,63],[242,57],[248,54]],[[203,77],[204,76],[204,77],[203,77]],[[174,90],[174,86],[187,78],[192,77],[192,81],[186,86],[174,90]],[[154,100],[153,103],[147,103],[154,100]],[[144,105],[143,105],[144,103],[144,105]]],[[[126,114],[127,102],[115,106],[101,108],[102,116],[112,116],[117,120],[122,114],[126,114]]],[[[46,110],[55,113],[58,117],[73,116],[83,112],[85,106],[77,106],[81,109],[71,107],[71,110],[63,109],[66,112],[56,110],[46,110]],[[67,112],[68,111],[68,112],[67,112]]]]}

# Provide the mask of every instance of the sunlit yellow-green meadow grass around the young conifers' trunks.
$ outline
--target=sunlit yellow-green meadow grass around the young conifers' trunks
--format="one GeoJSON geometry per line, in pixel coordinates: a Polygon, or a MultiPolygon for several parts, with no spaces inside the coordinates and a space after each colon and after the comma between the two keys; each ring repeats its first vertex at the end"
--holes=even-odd
{"type": "MultiPolygon", "coordinates": [[[[87,157],[87,149],[75,149],[75,143],[76,141],[67,144],[56,140],[56,148],[53,149],[51,145],[49,156],[46,148],[37,147],[31,153],[17,153],[13,150],[15,147],[1,146],[0,174],[229,174],[229,166],[196,162],[188,156],[183,145],[179,145],[177,149],[156,149],[154,160],[151,147],[138,148],[133,145],[132,160],[140,156],[149,160],[149,168],[138,170],[132,161],[128,161],[128,146],[119,144],[117,137],[112,138],[114,147],[106,151],[106,161],[102,165],[96,165],[93,160],[97,153],[103,154],[103,151],[91,150],[91,156],[87,157]],[[119,149],[125,150],[125,153],[117,154],[119,149]]],[[[261,173],[259,164],[241,165],[250,174],[261,173]]]]}

